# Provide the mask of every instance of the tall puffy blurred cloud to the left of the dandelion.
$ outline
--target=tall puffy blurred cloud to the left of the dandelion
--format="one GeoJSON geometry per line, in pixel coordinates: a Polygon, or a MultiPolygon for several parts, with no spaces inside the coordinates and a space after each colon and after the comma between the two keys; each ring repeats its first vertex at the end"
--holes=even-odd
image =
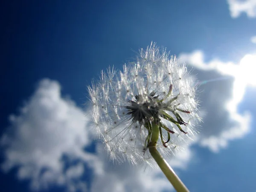
{"type": "Polygon", "coordinates": [[[84,167],[74,164],[66,170],[64,155],[79,159],[94,171],[100,172],[101,163],[84,152],[90,145],[84,112],[70,99],[61,97],[57,81],[44,79],[20,114],[10,116],[10,127],[1,138],[5,148],[3,171],[17,168],[20,180],[31,179],[31,189],[47,189],[51,184],[67,186],[69,191],[86,186],[81,180],[84,167]],[[97,168],[97,170],[96,170],[97,168]]]}

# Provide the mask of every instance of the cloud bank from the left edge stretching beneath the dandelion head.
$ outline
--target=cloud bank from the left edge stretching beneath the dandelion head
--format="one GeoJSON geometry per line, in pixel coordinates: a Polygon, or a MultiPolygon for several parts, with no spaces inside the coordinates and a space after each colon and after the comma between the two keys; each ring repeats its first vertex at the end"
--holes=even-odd
{"type": "MultiPolygon", "coordinates": [[[[19,114],[9,118],[8,131],[0,140],[5,156],[2,170],[17,168],[18,178],[31,180],[32,190],[47,190],[55,185],[70,192],[173,189],[159,168],[110,162],[100,142],[94,143],[95,153],[84,151],[94,139],[87,123],[89,117],[84,114],[73,101],[61,96],[57,81],[40,81],[19,114]]],[[[169,159],[173,167],[184,169],[191,159],[189,146],[183,148],[169,159]]]]}

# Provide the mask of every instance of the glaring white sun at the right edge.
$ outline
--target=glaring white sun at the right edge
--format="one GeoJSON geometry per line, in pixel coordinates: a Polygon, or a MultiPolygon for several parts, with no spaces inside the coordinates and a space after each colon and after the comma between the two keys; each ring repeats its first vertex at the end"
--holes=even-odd
{"type": "Polygon", "coordinates": [[[239,75],[247,84],[256,86],[256,55],[245,55],[239,64],[239,75]]]}

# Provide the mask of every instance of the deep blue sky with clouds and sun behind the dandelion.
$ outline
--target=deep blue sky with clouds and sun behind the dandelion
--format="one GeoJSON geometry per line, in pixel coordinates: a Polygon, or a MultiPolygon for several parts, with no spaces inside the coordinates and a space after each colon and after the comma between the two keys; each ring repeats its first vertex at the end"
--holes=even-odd
{"type": "Polygon", "coordinates": [[[174,191],[109,160],[87,86],[151,41],[199,80],[199,134],[167,161],[191,192],[255,192],[256,0],[0,4],[0,191],[174,191]]]}

